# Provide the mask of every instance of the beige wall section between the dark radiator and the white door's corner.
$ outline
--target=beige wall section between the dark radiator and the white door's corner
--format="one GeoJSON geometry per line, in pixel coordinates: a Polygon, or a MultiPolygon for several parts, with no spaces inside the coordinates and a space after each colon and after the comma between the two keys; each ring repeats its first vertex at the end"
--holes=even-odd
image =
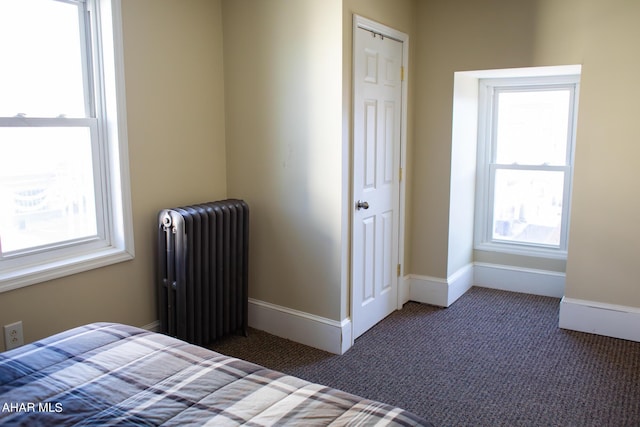
{"type": "Polygon", "coordinates": [[[251,208],[249,296],[342,318],[342,5],[229,0],[228,192],[251,208]]]}

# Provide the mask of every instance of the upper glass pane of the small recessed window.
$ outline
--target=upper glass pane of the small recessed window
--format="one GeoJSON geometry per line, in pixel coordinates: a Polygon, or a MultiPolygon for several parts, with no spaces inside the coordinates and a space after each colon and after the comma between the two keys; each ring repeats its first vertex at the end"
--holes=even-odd
{"type": "Polygon", "coordinates": [[[566,165],[571,92],[499,92],[496,163],[566,165]]]}

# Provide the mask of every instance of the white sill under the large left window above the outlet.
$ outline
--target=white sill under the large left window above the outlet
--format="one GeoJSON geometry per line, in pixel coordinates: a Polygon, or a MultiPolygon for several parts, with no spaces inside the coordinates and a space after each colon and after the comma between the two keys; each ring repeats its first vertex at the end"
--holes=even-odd
{"type": "Polygon", "coordinates": [[[37,265],[0,271],[0,293],[134,258],[133,251],[107,247],[94,252],[37,265]]]}

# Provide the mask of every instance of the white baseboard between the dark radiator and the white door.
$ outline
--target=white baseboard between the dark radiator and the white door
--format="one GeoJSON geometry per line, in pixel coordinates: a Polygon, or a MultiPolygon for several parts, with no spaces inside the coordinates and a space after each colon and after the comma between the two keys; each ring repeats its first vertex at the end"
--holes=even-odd
{"type": "Polygon", "coordinates": [[[351,319],[338,322],[252,298],[249,326],[334,354],[344,354],[353,345],[351,319]]]}

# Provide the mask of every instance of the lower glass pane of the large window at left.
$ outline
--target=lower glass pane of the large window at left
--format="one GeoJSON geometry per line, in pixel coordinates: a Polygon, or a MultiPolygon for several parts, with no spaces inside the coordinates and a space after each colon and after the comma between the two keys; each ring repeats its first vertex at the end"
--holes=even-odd
{"type": "Polygon", "coordinates": [[[86,127],[0,128],[3,253],[97,234],[86,127]]]}

